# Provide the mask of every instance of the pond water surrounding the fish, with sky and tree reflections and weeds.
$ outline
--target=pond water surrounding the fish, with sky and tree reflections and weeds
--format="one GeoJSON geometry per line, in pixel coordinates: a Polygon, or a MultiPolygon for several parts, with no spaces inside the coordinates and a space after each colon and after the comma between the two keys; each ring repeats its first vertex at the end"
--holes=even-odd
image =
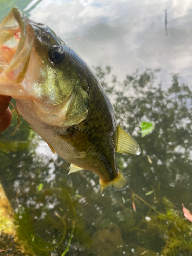
{"type": "MultiPolygon", "coordinates": [[[[0,134],[0,180],[31,255],[64,255],[69,239],[69,256],[192,255],[192,224],[181,205],[192,211],[191,4],[0,0],[0,19],[18,6],[78,52],[142,150],[136,157],[117,153],[129,188],[102,197],[97,175],[67,175],[69,164],[18,126],[12,109],[0,134]],[[154,125],[145,137],[143,121],[154,125]]],[[[0,245],[2,255],[16,255],[0,245]]]]}

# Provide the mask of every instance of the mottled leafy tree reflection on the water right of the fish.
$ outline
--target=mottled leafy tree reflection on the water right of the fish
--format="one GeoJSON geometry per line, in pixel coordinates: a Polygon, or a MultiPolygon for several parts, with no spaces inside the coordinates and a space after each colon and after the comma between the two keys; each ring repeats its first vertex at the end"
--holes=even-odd
{"type": "Polygon", "coordinates": [[[127,168],[131,172],[130,182],[136,190],[137,187],[147,189],[152,181],[156,187],[161,182],[164,195],[171,195],[175,203],[183,200],[188,203],[190,201],[181,196],[186,190],[191,192],[192,93],[188,86],[178,83],[177,75],[173,75],[167,91],[161,89],[161,84],[154,86],[154,77],[155,72],[151,70],[127,76],[121,92],[116,92],[116,117],[124,128],[128,127],[129,132],[137,136],[142,150],[139,161],[132,158],[127,168]],[[133,91],[137,97],[124,96],[128,91],[133,91]],[[155,124],[155,129],[142,138],[138,125],[148,120],[155,124]],[[151,157],[151,164],[146,155],[151,157]]]}

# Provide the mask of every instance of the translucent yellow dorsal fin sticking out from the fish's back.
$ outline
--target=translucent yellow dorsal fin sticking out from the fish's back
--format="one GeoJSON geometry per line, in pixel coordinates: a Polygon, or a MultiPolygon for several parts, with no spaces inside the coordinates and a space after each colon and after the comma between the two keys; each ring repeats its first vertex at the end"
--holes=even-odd
{"type": "Polygon", "coordinates": [[[119,125],[116,133],[116,152],[140,155],[141,149],[129,133],[125,132],[125,130],[123,130],[119,125]]]}

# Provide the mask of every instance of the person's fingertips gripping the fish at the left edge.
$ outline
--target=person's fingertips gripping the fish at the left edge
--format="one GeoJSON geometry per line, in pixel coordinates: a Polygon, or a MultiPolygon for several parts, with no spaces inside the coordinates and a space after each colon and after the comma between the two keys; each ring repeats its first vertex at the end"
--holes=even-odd
{"type": "Polygon", "coordinates": [[[11,101],[10,96],[0,95],[0,133],[11,123],[12,112],[8,108],[9,100],[11,101]]]}

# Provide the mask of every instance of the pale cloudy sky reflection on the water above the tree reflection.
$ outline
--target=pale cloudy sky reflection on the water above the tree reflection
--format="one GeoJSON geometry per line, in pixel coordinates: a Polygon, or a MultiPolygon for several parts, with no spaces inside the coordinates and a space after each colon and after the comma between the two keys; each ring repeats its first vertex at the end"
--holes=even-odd
{"type": "Polygon", "coordinates": [[[190,84],[191,1],[35,0],[24,10],[32,4],[30,19],[48,25],[89,66],[110,65],[120,79],[136,69],[160,68],[165,88],[172,73],[190,84]]]}

